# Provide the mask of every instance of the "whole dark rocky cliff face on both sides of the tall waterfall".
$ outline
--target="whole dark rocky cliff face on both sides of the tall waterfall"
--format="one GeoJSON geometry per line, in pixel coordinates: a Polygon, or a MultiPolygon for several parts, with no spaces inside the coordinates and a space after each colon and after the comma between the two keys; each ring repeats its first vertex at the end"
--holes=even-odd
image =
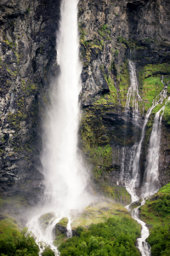
{"type": "MultiPolygon", "coordinates": [[[[43,176],[38,171],[42,168],[41,122],[50,79],[59,70],[55,51],[59,6],[60,0],[0,3],[0,193],[22,193],[31,205],[38,201],[43,189],[43,176]]],[[[80,0],[78,8],[83,64],[81,147],[93,166],[94,180],[110,193],[113,190],[108,190],[105,183],[116,184],[123,152],[139,141],[143,114],[162,90],[161,75],[165,82],[170,76],[170,3],[80,0]],[[143,99],[137,126],[131,112],[128,119],[124,114],[130,84],[127,58],[136,62],[143,99]]],[[[167,91],[169,94],[170,89],[167,91]]],[[[151,120],[144,138],[141,170],[153,117],[151,120]]],[[[169,137],[165,122],[161,184],[169,181],[169,137]]]]}

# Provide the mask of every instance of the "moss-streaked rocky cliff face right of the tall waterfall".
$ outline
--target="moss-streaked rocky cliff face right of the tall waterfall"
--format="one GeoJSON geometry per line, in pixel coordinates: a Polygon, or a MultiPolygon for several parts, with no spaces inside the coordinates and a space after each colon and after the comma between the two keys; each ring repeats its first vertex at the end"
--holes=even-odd
{"type": "MultiPolygon", "coordinates": [[[[170,3],[161,0],[79,2],[84,108],[82,148],[93,166],[94,180],[100,180],[99,183],[116,184],[122,160],[127,164],[128,151],[132,153],[134,144],[139,142],[144,114],[163,89],[161,76],[164,75],[165,83],[170,78],[169,9],[170,3]],[[136,127],[131,113],[128,120],[124,113],[130,84],[127,59],[136,63],[142,97],[141,118],[136,127]],[[153,92],[152,96],[149,91],[153,92]],[[111,148],[106,152],[105,147],[111,148]]],[[[168,87],[167,96],[169,93],[168,87]]],[[[141,177],[154,115],[159,108],[153,111],[147,125],[140,160],[141,177]]],[[[162,125],[161,185],[169,181],[169,136],[168,126],[162,125]]]]}

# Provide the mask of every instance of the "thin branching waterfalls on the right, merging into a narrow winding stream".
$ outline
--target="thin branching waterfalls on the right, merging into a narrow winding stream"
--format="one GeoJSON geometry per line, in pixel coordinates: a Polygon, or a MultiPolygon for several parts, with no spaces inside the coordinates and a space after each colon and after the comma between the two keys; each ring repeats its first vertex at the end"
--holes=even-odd
{"type": "MultiPolygon", "coordinates": [[[[139,112],[138,101],[140,101],[141,98],[139,96],[139,91],[138,91],[138,79],[136,76],[135,65],[134,65],[133,61],[128,61],[128,63],[129,63],[129,73],[130,73],[131,84],[127,91],[127,103],[126,103],[126,107],[125,107],[126,108],[125,113],[127,114],[127,110],[129,109],[129,104],[131,101],[131,96],[133,96],[133,119],[136,119],[136,121],[137,121],[138,112],[139,112]]],[[[163,84],[163,76],[161,79],[161,83],[163,84]]],[[[139,201],[139,196],[136,195],[136,188],[139,187],[139,182],[140,182],[139,160],[140,160],[142,143],[144,140],[145,128],[146,128],[146,125],[150,118],[150,113],[152,112],[152,110],[154,108],[156,108],[156,106],[158,104],[162,104],[166,97],[167,97],[167,86],[165,85],[164,89],[161,90],[161,93],[158,96],[156,96],[156,98],[153,100],[152,106],[148,109],[148,111],[144,117],[144,125],[142,128],[139,143],[135,143],[132,148],[127,148],[127,150],[125,148],[122,148],[122,166],[121,166],[120,181],[122,183],[124,182],[127,192],[131,195],[131,204],[134,201],[139,201]],[[127,158],[128,158],[128,160],[127,160],[127,158]],[[125,167],[125,166],[127,166],[127,167],[125,167]]],[[[159,122],[157,124],[159,124],[159,125],[156,126],[157,128],[155,126],[153,127],[153,130],[156,129],[156,132],[157,132],[157,142],[160,141],[160,137],[161,137],[161,118],[159,119],[159,114],[161,113],[161,111],[163,109],[164,109],[164,107],[161,108],[161,110],[158,113],[156,113],[155,121],[158,119],[159,122]]],[[[161,114],[161,116],[162,116],[162,114],[161,114]]],[[[155,134],[155,131],[153,131],[153,135],[154,134],[155,134]]],[[[150,140],[151,140],[151,138],[150,138],[150,140]]],[[[156,142],[154,142],[154,143],[156,143],[156,142]]],[[[152,148],[154,148],[154,145],[152,145],[152,146],[153,146],[152,148]]],[[[156,147],[158,147],[155,149],[158,150],[157,152],[159,154],[159,145],[156,145],[156,147]]],[[[154,153],[153,152],[151,153],[151,151],[150,151],[150,154],[148,156],[148,163],[151,160],[151,157],[152,157],[151,154],[153,156],[154,153]]],[[[157,168],[157,171],[158,171],[158,155],[156,156],[156,158],[157,158],[156,159],[157,162],[155,163],[156,167],[153,167],[153,168],[155,168],[154,169],[155,171],[157,168]]],[[[146,170],[145,191],[149,191],[150,185],[153,190],[156,188],[154,186],[156,185],[157,179],[155,180],[153,177],[154,173],[149,172],[149,171],[150,171],[150,166],[148,164],[148,171],[146,170]]],[[[153,172],[155,172],[155,171],[153,171],[153,172]]],[[[143,201],[139,207],[144,205],[144,203],[145,203],[145,200],[143,198],[143,201]]],[[[130,211],[131,204],[126,207],[128,211],[130,211]]],[[[132,211],[132,217],[142,226],[141,236],[137,240],[137,247],[139,248],[139,252],[141,253],[142,256],[150,256],[150,245],[145,241],[146,238],[148,236],[150,236],[150,231],[146,227],[146,224],[139,219],[139,207],[133,209],[133,211],[132,211]]]]}

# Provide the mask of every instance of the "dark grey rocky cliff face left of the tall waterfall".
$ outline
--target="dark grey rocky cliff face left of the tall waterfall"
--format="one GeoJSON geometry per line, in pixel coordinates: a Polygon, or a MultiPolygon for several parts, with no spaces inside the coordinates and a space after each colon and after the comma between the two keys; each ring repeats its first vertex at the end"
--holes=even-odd
{"type": "Polygon", "coordinates": [[[59,5],[0,3],[0,193],[25,195],[31,205],[42,189],[39,112],[47,101],[49,77],[57,73],[59,5]]]}

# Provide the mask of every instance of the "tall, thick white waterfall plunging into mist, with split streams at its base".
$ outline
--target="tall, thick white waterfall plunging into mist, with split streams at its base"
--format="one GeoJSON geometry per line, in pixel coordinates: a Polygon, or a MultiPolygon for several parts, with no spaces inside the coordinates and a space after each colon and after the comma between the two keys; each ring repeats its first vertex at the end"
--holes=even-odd
{"type": "MultiPolygon", "coordinates": [[[[44,121],[42,166],[46,181],[44,207],[41,214],[54,212],[48,228],[42,231],[38,214],[28,224],[37,242],[53,246],[53,229],[60,218],[69,219],[68,236],[71,237],[71,212],[89,203],[85,192],[88,174],[82,166],[77,148],[80,118],[78,96],[81,86],[82,65],[79,61],[77,24],[78,0],[62,0],[61,20],[57,41],[57,59],[60,74],[51,90],[51,105],[44,121]]],[[[42,248],[40,248],[40,255],[42,248]]]]}

